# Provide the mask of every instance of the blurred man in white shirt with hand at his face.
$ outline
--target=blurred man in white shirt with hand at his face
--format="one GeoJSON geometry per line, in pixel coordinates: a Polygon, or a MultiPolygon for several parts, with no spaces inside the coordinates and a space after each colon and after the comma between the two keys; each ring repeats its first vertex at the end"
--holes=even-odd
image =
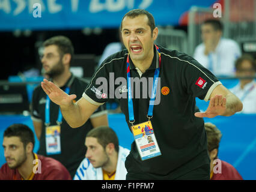
{"type": "Polygon", "coordinates": [[[209,19],[201,26],[203,43],[199,44],[194,58],[216,76],[234,75],[234,62],[241,55],[236,41],[222,38],[223,26],[219,20],[209,19]]]}

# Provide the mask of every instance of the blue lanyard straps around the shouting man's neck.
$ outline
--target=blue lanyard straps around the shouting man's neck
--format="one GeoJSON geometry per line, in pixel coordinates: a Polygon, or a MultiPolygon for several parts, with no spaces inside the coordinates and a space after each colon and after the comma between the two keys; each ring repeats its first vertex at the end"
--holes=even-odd
{"type": "MultiPolygon", "coordinates": [[[[157,49],[158,55],[159,55],[159,67],[156,68],[156,70],[154,71],[154,80],[153,80],[151,98],[150,98],[150,103],[149,103],[149,107],[148,107],[148,114],[147,114],[148,119],[152,118],[152,116],[153,116],[154,100],[156,98],[156,89],[157,89],[158,77],[159,77],[159,72],[160,72],[160,64],[161,64],[161,54],[160,54],[159,47],[156,46],[156,49],[157,49]]],[[[131,83],[130,83],[129,55],[127,56],[126,64],[127,64],[127,81],[128,81],[127,82],[127,88],[128,88],[129,122],[133,125],[133,123],[135,122],[135,119],[134,119],[134,113],[133,113],[132,91],[131,91],[131,83]]]]}

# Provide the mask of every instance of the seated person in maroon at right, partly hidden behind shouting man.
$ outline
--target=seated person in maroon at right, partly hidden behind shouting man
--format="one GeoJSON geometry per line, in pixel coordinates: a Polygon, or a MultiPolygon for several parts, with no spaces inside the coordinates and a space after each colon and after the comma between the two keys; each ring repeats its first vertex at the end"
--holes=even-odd
{"type": "Polygon", "coordinates": [[[243,180],[242,176],[229,163],[218,159],[219,142],[221,131],[212,123],[204,124],[207,134],[207,147],[210,156],[210,179],[211,180],[243,180]]]}

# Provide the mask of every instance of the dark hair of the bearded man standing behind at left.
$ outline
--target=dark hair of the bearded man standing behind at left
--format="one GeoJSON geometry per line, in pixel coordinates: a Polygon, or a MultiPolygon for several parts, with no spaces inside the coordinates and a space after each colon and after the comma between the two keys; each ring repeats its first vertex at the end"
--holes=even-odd
{"type": "Polygon", "coordinates": [[[44,41],[43,43],[44,47],[51,46],[51,45],[55,45],[58,47],[59,54],[64,55],[66,53],[69,53],[73,58],[74,47],[73,47],[72,41],[70,41],[69,38],[59,35],[59,36],[51,37],[46,41],[44,41]]]}

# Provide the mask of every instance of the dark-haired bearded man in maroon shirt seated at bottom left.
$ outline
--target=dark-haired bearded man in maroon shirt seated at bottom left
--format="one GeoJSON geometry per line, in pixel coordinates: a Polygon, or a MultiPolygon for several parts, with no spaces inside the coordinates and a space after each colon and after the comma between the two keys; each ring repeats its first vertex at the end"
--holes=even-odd
{"type": "Polygon", "coordinates": [[[33,153],[34,133],[23,124],[13,124],[4,131],[5,163],[2,180],[70,180],[66,167],[53,158],[33,153]]]}

